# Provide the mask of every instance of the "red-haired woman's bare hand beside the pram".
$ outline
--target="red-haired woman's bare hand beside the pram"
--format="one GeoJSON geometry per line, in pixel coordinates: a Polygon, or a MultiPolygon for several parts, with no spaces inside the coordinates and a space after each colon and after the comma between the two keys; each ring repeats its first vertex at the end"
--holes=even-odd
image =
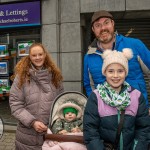
{"type": "Polygon", "coordinates": [[[35,129],[35,131],[39,133],[47,131],[47,126],[45,126],[43,122],[35,121],[32,126],[35,129]]]}

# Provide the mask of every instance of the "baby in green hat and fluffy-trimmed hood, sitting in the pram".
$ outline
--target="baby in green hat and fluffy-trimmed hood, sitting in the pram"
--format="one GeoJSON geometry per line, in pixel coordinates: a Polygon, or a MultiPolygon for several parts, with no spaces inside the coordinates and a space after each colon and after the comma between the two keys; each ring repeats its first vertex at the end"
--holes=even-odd
{"type": "Polygon", "coordinates": [[[59,118],[52,125],[55,134],[82,132],[82,110],[74,100],[68,100],[58,109],[59,118]]]}

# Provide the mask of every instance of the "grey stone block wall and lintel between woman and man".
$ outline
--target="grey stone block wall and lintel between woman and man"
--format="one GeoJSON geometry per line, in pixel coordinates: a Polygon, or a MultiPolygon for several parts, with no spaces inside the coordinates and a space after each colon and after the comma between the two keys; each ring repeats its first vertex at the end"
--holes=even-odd
{"type": "Polygon", "coordinates": [[[105,9],[114,12],[116,18],[135,18],[144,15],[150,18],[149,0],[41,0],[41,2],[42,43],[62,70],[65,90],[83,92],[82,38],[85,37],[81,30],[84,22],[82,14],[105,9]]]}

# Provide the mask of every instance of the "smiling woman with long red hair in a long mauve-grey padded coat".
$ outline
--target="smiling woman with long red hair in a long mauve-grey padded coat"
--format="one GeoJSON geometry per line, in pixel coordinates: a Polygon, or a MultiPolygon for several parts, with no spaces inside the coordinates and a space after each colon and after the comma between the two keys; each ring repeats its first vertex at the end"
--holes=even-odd
{"type": "Polygon", "coordinates": [[[29,48],[29,55],[15,67],[9,103],[12,115],[19,123],[16,150],[40,150],[47,131],[50,107],[63,92],[62,75],[40,43],[29,48]]]}

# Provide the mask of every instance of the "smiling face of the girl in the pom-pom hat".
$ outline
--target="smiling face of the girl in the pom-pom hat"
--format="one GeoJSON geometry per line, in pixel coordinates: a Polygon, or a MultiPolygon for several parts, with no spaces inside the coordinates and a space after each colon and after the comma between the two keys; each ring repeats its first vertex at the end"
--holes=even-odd
{"type": "Polygon", "coordinates": [[[110,86],[120,92],[121,86],[125,80],[126,72],[122,65],[114,63],[110,64],[106,71],[106,81],[110,84],[110,86]]]}

